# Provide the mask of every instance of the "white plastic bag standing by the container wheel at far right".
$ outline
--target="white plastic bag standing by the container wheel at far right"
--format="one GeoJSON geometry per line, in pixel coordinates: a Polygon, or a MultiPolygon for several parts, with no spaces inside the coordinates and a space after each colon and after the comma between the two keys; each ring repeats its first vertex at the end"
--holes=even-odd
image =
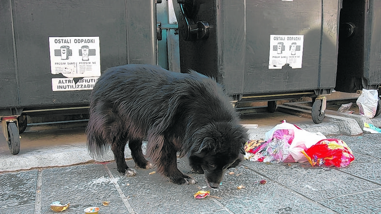
{"type": "Polygon", "coordinates": [[[379,101],[379,93],[377,90],[363,89],[363,92],[357,98],[356,104],[359,107],[360,115],[367,118],[373,118],[377,111],[377,104],[379,101]]]}

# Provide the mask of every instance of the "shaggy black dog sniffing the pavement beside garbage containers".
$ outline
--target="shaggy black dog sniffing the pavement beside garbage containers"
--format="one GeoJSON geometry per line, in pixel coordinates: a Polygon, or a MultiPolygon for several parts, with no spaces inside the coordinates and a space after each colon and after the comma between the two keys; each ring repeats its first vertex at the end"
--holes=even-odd
{"type": "Polygon", "coordinates": [[[117,169],[133,176],[124,149],[128,141],[136,166],[157,170],[174,183],[195,183],[177,168],[176,153],[187,155],[193,170],[205,173],[217,188],[227,168],[241,161],[246,129],[212,78],[190,71],[170,72],[158,66],[128,64],[108,69],[90,96],[87,146],[102,155],[111,145],[117,169]]]}

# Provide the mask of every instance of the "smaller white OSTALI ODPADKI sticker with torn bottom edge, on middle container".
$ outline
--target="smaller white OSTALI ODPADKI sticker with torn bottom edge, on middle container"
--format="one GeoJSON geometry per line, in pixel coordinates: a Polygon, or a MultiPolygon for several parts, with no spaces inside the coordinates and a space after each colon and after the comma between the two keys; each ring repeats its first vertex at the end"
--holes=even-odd
{"type": "Polygon", "coordinates": [[[304,35],[270,35],[269,69],[302,68],[304,35]]]}

